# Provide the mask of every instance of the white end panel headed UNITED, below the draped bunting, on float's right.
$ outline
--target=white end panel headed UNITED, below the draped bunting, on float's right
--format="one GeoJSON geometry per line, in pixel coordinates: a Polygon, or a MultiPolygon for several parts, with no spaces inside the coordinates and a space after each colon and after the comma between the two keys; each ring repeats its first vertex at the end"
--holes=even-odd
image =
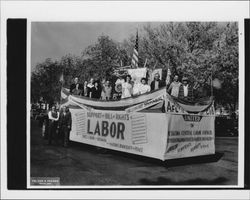
{"type": "Polygon", "coordinates": [[[214,117],[169,115],[165,158],[214,154],[214,117]]]}

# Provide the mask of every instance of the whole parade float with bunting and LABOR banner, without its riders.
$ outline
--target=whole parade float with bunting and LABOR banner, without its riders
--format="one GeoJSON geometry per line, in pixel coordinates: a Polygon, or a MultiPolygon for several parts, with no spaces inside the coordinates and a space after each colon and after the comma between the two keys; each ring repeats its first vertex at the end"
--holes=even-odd
{"type": "Polygon", "coordinates": [[[166,87],[109,101],[62,88],[61,97],[72,114],[71,141],[163,161],[215,154],[212,98],[187,103],[166,87]]]}

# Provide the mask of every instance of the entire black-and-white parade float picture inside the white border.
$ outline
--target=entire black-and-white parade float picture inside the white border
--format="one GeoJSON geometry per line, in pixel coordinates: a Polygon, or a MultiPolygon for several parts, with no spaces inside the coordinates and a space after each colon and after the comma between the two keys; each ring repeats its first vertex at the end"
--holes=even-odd
{"type": "Polygon", "coordinates": [[[237,186],[238,54],[237,22],[32,22],[30,185],[237,186]]]}

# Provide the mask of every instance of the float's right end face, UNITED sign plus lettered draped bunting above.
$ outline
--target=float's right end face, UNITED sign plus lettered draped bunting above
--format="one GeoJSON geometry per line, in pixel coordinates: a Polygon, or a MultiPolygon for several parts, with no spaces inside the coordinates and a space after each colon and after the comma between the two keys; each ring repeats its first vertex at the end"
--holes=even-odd
{"type": "Polygon", "coordinates": [[[167,147],[165,159],[192,157],[215,153],[214,106],[180,106],[166,97],[167,147]],[[188,113],[190,110],[197,114],[188,113]]]}

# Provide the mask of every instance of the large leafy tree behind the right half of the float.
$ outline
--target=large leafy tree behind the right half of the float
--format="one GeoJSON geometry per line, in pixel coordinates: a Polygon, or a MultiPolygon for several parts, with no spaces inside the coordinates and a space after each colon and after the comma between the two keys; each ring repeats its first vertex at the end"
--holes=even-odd
{"type": "Polygon", "coordinates": [[[149,67],[170,67],[172,74],[200,78],[218,78],[216,101],[232,110],[238,101],[238,27],[236,23],[188,22],[144,27],[139,56],[149,67]]]}

